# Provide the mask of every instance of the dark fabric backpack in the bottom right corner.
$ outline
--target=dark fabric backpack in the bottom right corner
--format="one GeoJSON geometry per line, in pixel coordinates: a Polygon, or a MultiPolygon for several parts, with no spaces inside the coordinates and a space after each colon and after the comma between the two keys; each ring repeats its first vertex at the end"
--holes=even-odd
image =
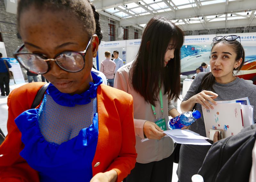
{"type": "Polygon", "coordinates": [[[198,174],[204,182],[249,181],[256,124],[212,145],[198,174]]]}

